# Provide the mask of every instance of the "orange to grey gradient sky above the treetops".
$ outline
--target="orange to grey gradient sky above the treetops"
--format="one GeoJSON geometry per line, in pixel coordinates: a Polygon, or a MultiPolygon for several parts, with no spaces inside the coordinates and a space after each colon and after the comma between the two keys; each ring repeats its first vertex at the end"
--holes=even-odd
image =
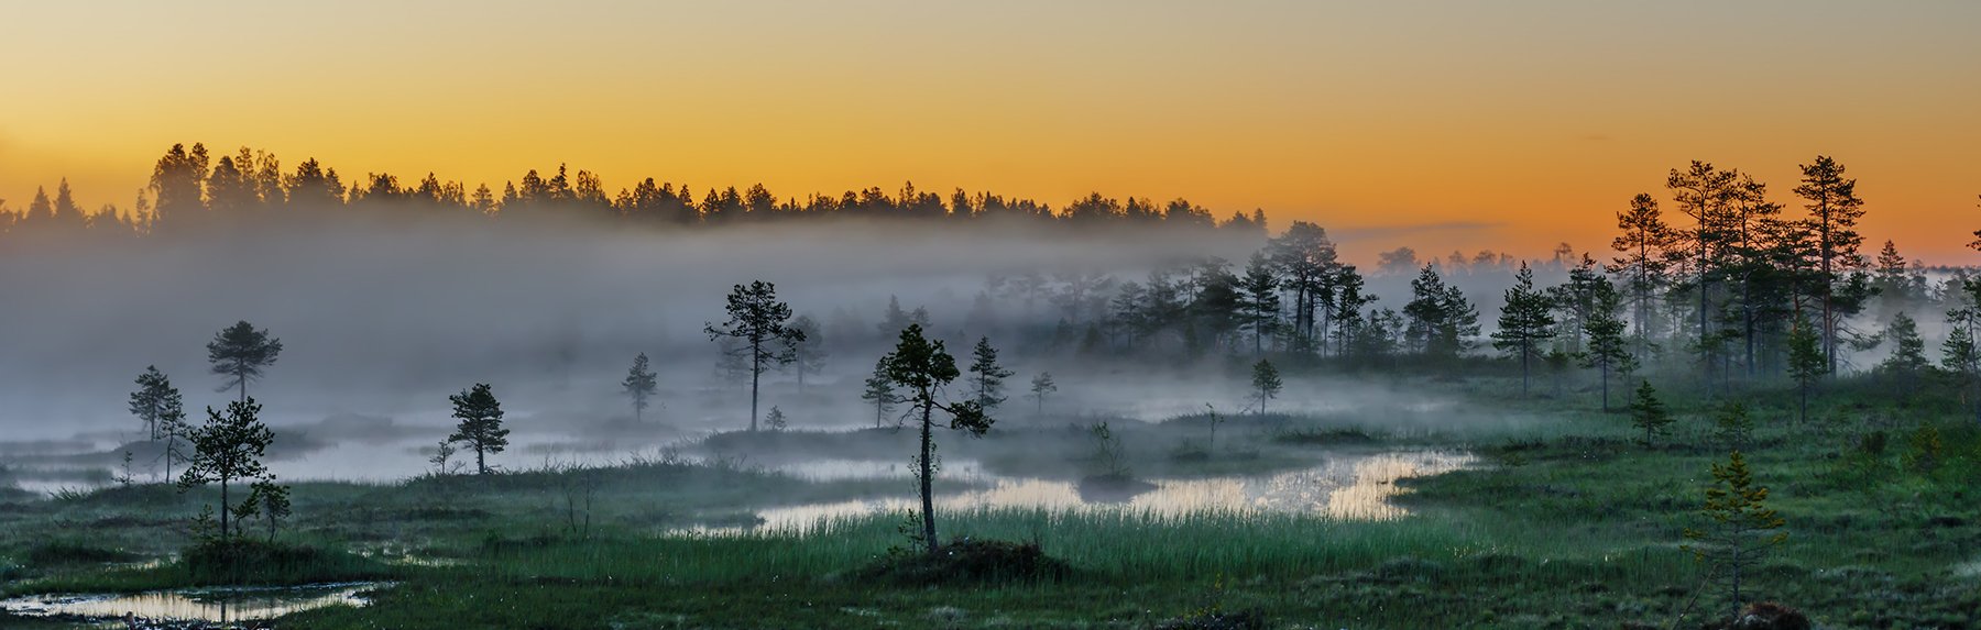
{"type": "Polygon", "coordinates": [[[1967,263],[1981,2],[0,2],[0,198],[129,206],[172,143],[351,180],[1099,190],[1351,258],[1607,250],[1704,158],[1967,263]]]}

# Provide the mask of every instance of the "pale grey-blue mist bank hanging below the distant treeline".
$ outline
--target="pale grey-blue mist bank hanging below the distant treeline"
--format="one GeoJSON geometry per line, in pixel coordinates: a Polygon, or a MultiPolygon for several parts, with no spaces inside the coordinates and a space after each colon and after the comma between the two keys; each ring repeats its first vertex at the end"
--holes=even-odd
{"type": "MultiPolygon", "coordinates": [[[[438,424],[446,396],[471,382],[495,384],[513,414],[537,418],[517,420],[523,430],[630,420],[618,380],[634,355],[648,353],[662,388],[650,420],[737,428],[747,422],[747,392],[717,372],[719,349],[701,329],[723,319],[731,285],[755,279],[777,283],[798,315],[818,323],[830,351],[822,374],[806,376],[810,396],[786,412],[800,424],[858,424],[872,416],[858,410],[858,378],[891,343],[880,331],[889,299],[925,309],[931,331],[965,353],[965,337],[1082,315],[1062,313],[1050,289],[1030,305],[1010,295],[979,305],[981,291],[998,289],[992,277],[1143,277],[1212,256],[1242,260],[1262,244],[1218,232],[1056,236],[1022,224],[505,228],[341,222],[113,248],[10,248],[0,254],[0,293],[10,295],[0,426],[32,438],[131,430],[125,396],[147,365],[186,390],[188,408],[218,406],[232,392],[214,392],[222,376],[208,372],[204,345],[246,319],[285,345],[265,378],[250,384],[277,424],[337,414],[438,424]]],[[[1022,365],[1022,355],[1012,359],[1022,365]]],[[[796,386],[771,390],[786,388],[796,386]]],[[[1228,396],[1175,398],[1191,408],[1228,396]]],[[[1143,404],[1165,404],[1155,400],[1143,404]]]]}

